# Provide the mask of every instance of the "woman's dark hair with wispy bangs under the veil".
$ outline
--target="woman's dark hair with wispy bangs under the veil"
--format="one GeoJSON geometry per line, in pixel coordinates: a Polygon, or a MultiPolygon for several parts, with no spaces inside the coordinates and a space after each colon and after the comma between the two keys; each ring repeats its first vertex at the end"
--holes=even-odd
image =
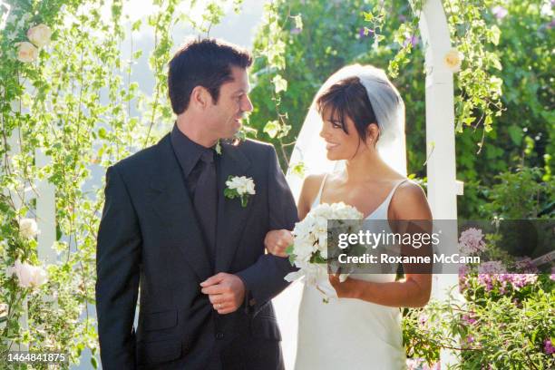
{"type": "Polygon", "coordinates": [[[346,78],[330,86],[316,99],[316,111],[320,115],[329,112],[332,120],[340,123],[345,133],[349,133],[346,127],[346,117],[349,117],[355,122],[358,137],[364,142],[368,126],[377,124],[365,86],[358,77],[346,78]]]}

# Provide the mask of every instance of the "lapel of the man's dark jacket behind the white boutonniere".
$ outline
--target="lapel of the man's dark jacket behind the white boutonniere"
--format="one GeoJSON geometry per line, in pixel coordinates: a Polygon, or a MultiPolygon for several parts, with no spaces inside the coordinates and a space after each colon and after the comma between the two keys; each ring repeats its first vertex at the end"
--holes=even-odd
{"type": "Polygon", "coordinates": [[[248,199],[247,207],[241,206],[236,198],[230,200],[224,197],[226,181],[229,176],[247,176],[250,161],[238,148],[229,144],[221,145],[218,177],[218,232],[216,235],[216,273],[228,272],[235,252],[239,247],[239,238],[245,228],[252,202],[256,195],[248,199]]]}

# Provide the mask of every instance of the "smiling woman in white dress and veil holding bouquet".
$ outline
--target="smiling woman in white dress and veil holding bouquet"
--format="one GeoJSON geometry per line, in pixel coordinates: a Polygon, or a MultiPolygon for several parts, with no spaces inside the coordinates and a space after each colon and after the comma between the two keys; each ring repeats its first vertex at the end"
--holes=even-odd
{"type": "MultiPolygon", "coordinates": [[[[340,70],[316,95],[313,107],[322,120],[326,157],[343,168],[307,177],[297,205],[299,219],[320,203],[339,201],[365,219],[392,225],[395,220],[432,219],[424,191],[399,173],[405,172],[398,165],[404,163],[404,102],[384,71],[361,65],[340,70]]],[[[270,253],[283,257],[293,238],[288,230],[274,230],[265,243],[270,253]]],[[[398,281],[395,274],[357,274],[340,283],[330,275],[339,299],[328,304],[316,287],[306,285],[296,368],[405,368],[399,307],[424,306],[432,279],[411,273],[408,266],[404,272],[398,281]]]]}

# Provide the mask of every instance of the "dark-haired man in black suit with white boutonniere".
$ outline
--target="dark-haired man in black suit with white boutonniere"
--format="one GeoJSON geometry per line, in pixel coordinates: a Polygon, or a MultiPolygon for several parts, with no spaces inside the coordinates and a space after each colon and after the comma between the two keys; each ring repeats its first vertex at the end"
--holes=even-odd
{"type": "Polygon", "coordinates": [[[293,228],[295,202],[271,145],[215,152],[252,111],[251,63],[218,40],[186,44],[170,61],[173,130],[107,171],[96,284],[106,370],[283,368],[270,299],[291,267],[263,241],[293,228]],[[229,176],[254,180],[246,206],[224,196],[229,176]]]}

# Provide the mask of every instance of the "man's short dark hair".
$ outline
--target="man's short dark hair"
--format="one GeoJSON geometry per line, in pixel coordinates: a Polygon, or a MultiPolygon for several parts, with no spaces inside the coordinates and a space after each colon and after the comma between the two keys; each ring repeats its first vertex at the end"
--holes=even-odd
{"type": "Polygon", "coordinates": [[[252,64],[248,51],[218,39],[197,39],[183,45],[169,63],[168,91],[175,114],[189,107],[196,86],[206,88],[218,102],[219,88],[232,81],[231,66],[247,69],[252,64]]]}

